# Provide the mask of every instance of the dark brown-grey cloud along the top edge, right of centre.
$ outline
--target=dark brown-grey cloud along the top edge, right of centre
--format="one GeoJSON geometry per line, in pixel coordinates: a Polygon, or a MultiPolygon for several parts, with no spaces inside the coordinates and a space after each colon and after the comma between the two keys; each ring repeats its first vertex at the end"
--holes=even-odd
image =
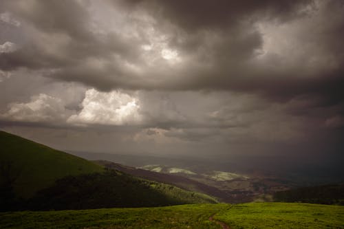
{"type": "MultiPolygon", "coordinates": [[[[118,2],[118,1],[114,1],[118,2]]],[[[204,28],[228,28],[241,20],[255,20],[255,17],[272,19],[290,19],[299,12],[300,5],[311,1],[156,1],[156,0],[129,0],[120,1],[128,8],[145,8],[155,17],[178,24],[185,30],[199,30],[204,28]]]]}

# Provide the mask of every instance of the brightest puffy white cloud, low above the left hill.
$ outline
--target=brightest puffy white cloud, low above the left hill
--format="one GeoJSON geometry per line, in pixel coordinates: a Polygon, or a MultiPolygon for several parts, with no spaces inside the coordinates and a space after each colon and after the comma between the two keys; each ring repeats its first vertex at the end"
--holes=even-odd
{"type": "Polygon", "coordinates": [[[120,91],[100,92],[89,89],[82,103],[83,109],[68,118],[76,124],[140,124],[142,116],[137,98],[120,91]]]}

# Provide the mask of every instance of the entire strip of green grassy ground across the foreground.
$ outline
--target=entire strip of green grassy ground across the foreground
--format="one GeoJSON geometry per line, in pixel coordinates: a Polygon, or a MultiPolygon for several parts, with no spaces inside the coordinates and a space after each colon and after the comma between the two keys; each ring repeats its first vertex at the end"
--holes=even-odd
{"type": "Polygon", "coordinates": [[[344,228],[344,207],[317,204],[193,204],[0,213],[0,228],[344,228]]]}

